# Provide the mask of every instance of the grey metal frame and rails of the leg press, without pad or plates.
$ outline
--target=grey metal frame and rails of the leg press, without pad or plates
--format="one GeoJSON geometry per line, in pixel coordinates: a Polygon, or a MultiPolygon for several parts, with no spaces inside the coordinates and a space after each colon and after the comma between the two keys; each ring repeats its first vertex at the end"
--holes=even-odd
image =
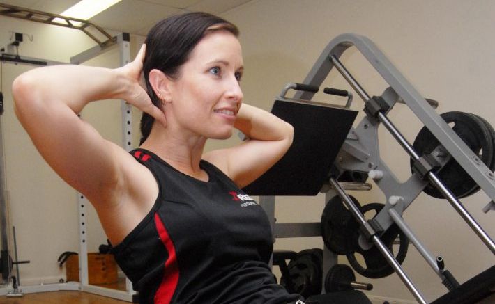
{"type": "MultiPolygon", "coordinates": [[[[327,184],[323,186],[321,192],[326,193],[326,201],[333,198],[335,194],[342,198],[344,205],[351,211],[354,218],[360,224],[365,234],[368,234],[369,240],[360,239],[360,241],[370,243],[383,254],[390,266],[399,275],[404,285],[411,291],[414,298],[419,303],[427,303],[425,296],[416,288],[409,276],[404,272],[395,257],[383,244],[381,239],[376,235],[377,230],[384,231],[393,223],[406,234],[413,246],[415,246],[422,257],[425,258],[429,266],[441,278],[444,285],[452,290],[452,285],[458,285],[455,278],[443,269],[441,261],[437,261],[427,250],[419,239],[416,237],[411,228],[402,218],[403,212],[414,199],[427,186],[428,182],[436,186],[443,196],[450,202],[457,213],[466,221],[473,232],[478,235],[483,243],[495,254],[495,243],[489,237],[487,232],[475,221],[473,216],[462,205],[450,189],[437,177],[434,170],[428,168],[427,162],[422,156],[413,149],[412,145],[402,136],[400,131],[393,125],[387,117],[387,113],[396,103],[405,104],[418,117],[429,131],[438,139],[446,152],[450,154],[457,163],[466,170],[466,173],[480,186],[490,198],[490,202],[483,209],[488,212],[495,209],[495,176],[476,156],[471,149],[462,141],[457,134],[448,126],[448,124],[434,111],[437,103],[423,98],[418,91],[406,81],[402,74],[390,63],[388,58],[374,45],[368,38],[356,34],[343,34],[331,40],[323,50],[312,70],[307,74],[303,81],[303,86],[314,87],[316,90],[298,90],[293,99],[300,102],[311,102],[314,93],[318,90],[321,83],[326,79],[330,70],[335,67],[342,74],[342,77],[356,91],[361,99],[365,102],[365,113],[363,120],[359,122],[356,128],[351,128],[344,141],[339,154],[338,161],[334,163],[338,172],[359,172],[367,173],[372,177],[374,183],[386,195],[386,205],[374,217],[372,223],[367,221],[360,212],[358,206],[349,198],[344,191],[341,182],[337,181],[337,175],[330,172],[327,184]],[[365,89],[360,86],[358,81],[349,73],[346,67],[340,62],[340,56],[349,49],[356,47],[360,54],[374,67],[374,69],[388,83],[389,87],[379,97],[371,97],[365,89]],[[386,163],[379,156],[378,145],[378,127],[383,125],[392,134],[393,138],[409,154],[413,161],[422,164],[424,177],[420,174],[413,173],[406,182],[399,182],[386,163]],[[456,284],[457,283],[457,284],[456,284]]],[[[292,86],[289,86],[292,87],[292,86]]],[[[288,100],[285,97],[287,88],[277,99],[288,100]]],[[[349,107],[350,102],[346,107],[349,107]]],[[[436,161],[443,166],[446,163],[445,157],[436,157],[436,161]]],[[[333,170],[332,170],[333,171],[333,170]]],[[[260,205],[264,207],[271,219],[273,234],[275,237],[312,237],[321,235],[320,223],[275,223],[275,196],[267,195],[260,197],[260,205]]],[[[337,263],[337,255],[331,253],[325,248],[323,261],[323,273],[326,273],[331,266],[337,263]]]]}

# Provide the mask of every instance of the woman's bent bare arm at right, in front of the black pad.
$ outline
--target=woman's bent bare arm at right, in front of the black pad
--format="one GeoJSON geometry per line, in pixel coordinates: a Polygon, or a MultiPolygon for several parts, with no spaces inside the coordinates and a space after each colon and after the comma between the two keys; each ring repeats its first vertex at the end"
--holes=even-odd
{"type": "Polygon", "coordinates": [[[250,139],[205,154],[239,186],[247,186],[279,161],[292,144],[294,128],[275,115],[243,104],[234,125],[250,139]]]}

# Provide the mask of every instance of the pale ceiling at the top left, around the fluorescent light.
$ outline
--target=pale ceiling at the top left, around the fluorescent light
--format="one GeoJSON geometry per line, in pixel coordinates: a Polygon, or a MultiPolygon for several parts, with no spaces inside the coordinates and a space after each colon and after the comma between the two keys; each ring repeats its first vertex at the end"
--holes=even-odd
{"type": "MultiPolygon", "coordinates": [[[[0,3],[60,14],[79,0],[0,0],[0,3]]],[[[146,35],[151,26],[181,11],[204,11],[220,15],[252,0],[122,0],[89,22],[103,29],[146,35]]]]}

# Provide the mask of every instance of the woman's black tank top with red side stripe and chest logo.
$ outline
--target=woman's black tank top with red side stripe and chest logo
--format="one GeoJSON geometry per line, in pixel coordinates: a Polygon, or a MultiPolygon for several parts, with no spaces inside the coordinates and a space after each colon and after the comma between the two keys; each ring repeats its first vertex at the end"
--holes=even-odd
{"type": "Polygon", "coordinates": [[[132,155],[155,176],[151,211],[113,249],[139,303],[281,304],[295,301],[268,267],[273,250],[264,210],[222,171],[200,166],[208,182],[147,150],[132,155]]]}

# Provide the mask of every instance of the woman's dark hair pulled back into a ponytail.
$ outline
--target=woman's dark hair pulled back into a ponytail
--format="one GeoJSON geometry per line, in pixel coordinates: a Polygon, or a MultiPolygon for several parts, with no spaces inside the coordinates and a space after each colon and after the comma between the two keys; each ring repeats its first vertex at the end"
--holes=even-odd
{"type": "MultiPolygon", "coordinates": [[[[153,26],[146,36],[143,73],[146,90],[155,106],[161,109],[162,102],[149,83],[149,72],[158,69],[168,77],[177,79],[179,69],[188,61],[192,49],[206,33],[216,30],[225,30],[238,35],[238,29],[234,24],[220,17],[200,12],[175,15],[153,26]],[[211,26],[213,29],[208,29],[211,26]]],[[[151,115],[143,113],[140,125],[142,138],[139,145],[148,138],[153,122],[154,118],[151,115]]]]}

